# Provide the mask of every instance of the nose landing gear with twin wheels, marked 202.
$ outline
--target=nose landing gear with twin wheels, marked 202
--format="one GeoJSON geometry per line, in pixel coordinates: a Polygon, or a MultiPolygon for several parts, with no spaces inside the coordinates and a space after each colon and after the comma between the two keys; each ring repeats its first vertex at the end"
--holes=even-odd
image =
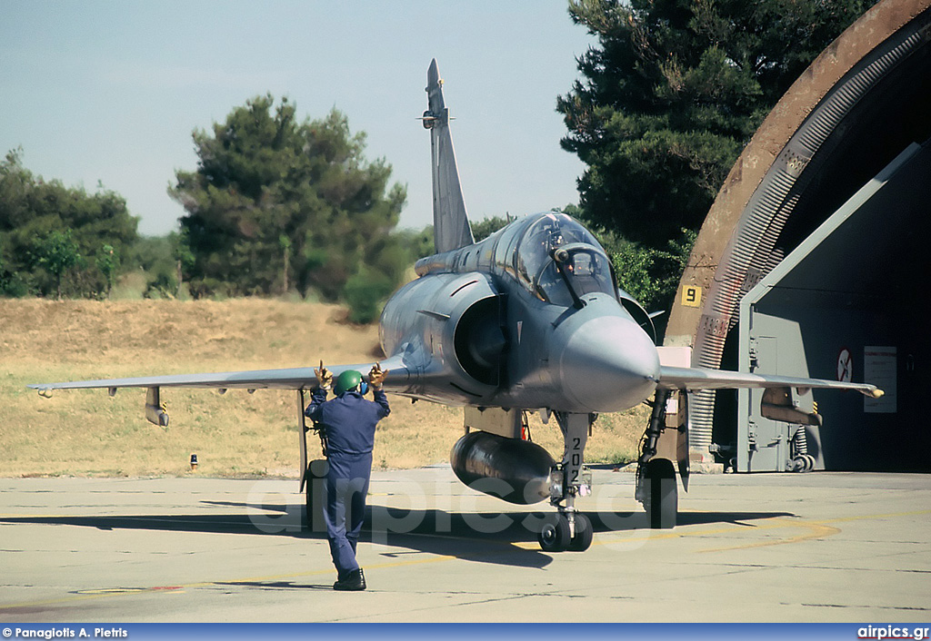
{"type": "Polygon", "coordinates": [[[562,461],[549,474],[549,502],[559,512],[546,516],[537,541],[544,552],[584,552],[591,546],[594,530],[588,517],[575,509],[575,497],[591,491],[582,455],[596,415],[556,412],[555,416],[565,447],[562,461]]]}

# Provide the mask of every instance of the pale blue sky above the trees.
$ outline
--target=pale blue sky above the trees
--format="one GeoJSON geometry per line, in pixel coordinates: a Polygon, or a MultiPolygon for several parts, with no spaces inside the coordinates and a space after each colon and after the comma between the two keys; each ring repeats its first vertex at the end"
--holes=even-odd
{"type": "Polygon", "coordinates": [[[401,225],[431,221],[426,69],[439,62],[473,220],[577,201],[556,97],[594,39],[564,0],[33,2],[0,0],[0,154],[45,179],[122,194],[142,234],[183,209],[191,132],[271,92],[341,110],[408,186],[401,225]]]}

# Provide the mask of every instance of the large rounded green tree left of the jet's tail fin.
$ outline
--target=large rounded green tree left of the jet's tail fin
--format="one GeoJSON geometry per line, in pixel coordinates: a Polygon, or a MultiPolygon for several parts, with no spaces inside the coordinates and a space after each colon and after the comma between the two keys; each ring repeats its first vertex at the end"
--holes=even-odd
{"type": "Polygon", "coordinates": [[[293,284],[335,300],[361,274],[399,282],[406,256],[388,238],[406,193],[388,187],[384,159],[364,158],[365,135],[343,114],[299,122],[292,103],[266,95],[193,137],[198,166],[178,171],[169,189],[187,211],[192,293],[293,284]]]}

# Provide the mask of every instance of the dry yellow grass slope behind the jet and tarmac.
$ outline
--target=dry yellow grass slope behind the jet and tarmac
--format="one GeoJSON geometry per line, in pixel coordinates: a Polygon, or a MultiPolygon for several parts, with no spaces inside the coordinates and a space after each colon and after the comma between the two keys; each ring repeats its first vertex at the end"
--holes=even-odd
{"type": "MultiPolygon", "coordinates": [[[[382,357],[377,327],[344,318],[335,305],[280,300],[0,300],[0,476],[182,475],[197,453],[196,474],[296,477],[293,392],[165,390],[171,424],[160,428],[143,418],[141,390],[44,399],[25,386],[382,357]]],[[[376,466],[448,461],[462,434],[462,410],[391,400],[376,437],[376,466]]],[[[557,454],[559,429],[534,416],[534,440],[557,454]]],[[[601,417],[587,459],[629,461],[645,420],[642,407],[601,417]]]]}

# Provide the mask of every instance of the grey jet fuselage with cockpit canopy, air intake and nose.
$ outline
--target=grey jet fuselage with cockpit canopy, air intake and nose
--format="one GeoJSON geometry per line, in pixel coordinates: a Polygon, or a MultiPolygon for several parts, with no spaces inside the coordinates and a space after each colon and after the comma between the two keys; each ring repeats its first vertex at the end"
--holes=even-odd
{"type": "Polygon", "coordinates": [[[385,354],[421,374],[408,394],[589,413],[654,392],[654,342],[618,300],[604,249],[571,217],[515,220],[415,270],[381,323],[385,354]]]}

